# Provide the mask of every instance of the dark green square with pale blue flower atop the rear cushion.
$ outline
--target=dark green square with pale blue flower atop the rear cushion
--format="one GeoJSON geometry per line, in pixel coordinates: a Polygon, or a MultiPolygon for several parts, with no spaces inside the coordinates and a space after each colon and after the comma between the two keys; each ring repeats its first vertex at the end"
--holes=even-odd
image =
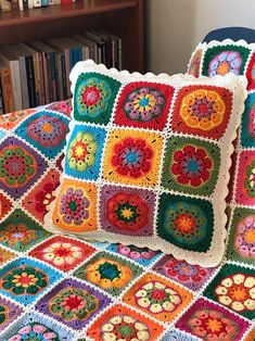
{"type": "Polygon", "coordinates": [[[231,45],[209,48],[204,54],[202,75],[243,75],[250,52],[244,47],[231,45]]]}

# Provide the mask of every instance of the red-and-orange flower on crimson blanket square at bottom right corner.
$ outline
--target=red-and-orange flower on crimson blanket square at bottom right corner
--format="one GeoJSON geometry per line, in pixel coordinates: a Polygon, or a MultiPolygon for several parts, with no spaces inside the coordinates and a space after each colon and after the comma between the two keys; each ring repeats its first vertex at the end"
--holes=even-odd
{"type": "Polygon", "coordinates": [[[239,326],[215,310],[197,310],[188,320],[191,332],[203,340],[234,340],[239,326]]]}

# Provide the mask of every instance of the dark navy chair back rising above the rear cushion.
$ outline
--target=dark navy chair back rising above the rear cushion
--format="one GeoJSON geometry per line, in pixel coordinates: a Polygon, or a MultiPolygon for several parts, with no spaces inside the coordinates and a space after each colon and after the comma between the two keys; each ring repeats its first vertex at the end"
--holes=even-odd
{"type": "Polygon", "coordinates": [[[238,41],[240,39],[246,40],[246,42],[255,42],[255,29],[246,27],[224,27],[212,30],[208,33],[204,41],[209,42],[211,40],[222,41],[225,39],[232,39],[238,41]]]}

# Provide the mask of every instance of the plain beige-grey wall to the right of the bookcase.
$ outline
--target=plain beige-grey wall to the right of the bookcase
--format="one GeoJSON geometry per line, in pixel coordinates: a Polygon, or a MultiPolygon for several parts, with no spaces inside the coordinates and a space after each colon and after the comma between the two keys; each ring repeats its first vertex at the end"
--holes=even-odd
{"type": "Polygon", "coordinates": [[[183,72],[208,31],[225,26],[255,28],[254,0],[145,0],[146,68],[183,72]]]}

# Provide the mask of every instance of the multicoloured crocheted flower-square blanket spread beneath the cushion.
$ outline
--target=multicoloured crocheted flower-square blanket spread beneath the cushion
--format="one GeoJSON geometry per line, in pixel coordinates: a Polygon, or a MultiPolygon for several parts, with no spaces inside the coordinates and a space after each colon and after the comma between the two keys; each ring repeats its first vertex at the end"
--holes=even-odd
{"type": "MultiPolygon", "coordinates": [[[[255,265],[228,260],[232,239],[203,268],[43,229],[69,113],[66,101],[0,118],[0,340],[255,340],[255,265]]],[[[255,250],[254,219],[235,233],[255,250]]]]}

